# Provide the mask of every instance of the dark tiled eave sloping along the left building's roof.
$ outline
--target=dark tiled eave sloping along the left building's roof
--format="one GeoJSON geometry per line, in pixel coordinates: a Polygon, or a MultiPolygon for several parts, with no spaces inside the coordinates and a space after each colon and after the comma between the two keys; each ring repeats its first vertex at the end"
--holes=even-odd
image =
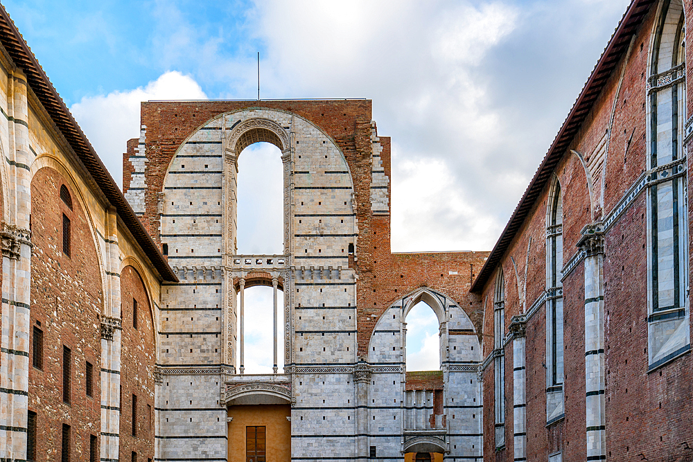
{"type": "Polygon", "coordinates": [[[118,215],[128,227],[132,236],[150,259],[152,265],[157,269],[164,281],[177,282],[178,279],[173,273],[173,269],[166,263],[164,256],[161,255],[159,248],[149,236],[144,226],[132,211],[132,207],[125,200],[120,188],[116,185],[108,170],[98,158],[94,148],[87,140],[87,137],[79,125],[70,114],[62,98],[55,91],[53,84],[44,73],[36,57],[24,42],[15,27],[12,19],[8,16],[5,8],[0,6],[0,44],[5,48],[8,55],[12,58],[21,71],[26,75],[28,86],[40,100],[46,112],[53,119],[53,123],[58,127],[65,140],[77,154],[82,165],[87,169],[91,177],[96,181],[103,195],[108,202],[116,208],[118,215]]]}

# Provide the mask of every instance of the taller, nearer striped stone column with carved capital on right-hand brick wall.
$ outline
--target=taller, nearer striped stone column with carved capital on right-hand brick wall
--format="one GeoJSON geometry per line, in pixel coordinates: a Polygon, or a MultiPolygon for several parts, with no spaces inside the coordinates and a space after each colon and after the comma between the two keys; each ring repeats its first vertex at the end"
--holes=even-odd
{"type": "Polygon", "coordinates": [[[587,227],[578,242],[585,252],[585,381],[587,460],[606,460],[604,402],[604,238],[587,227]]]}

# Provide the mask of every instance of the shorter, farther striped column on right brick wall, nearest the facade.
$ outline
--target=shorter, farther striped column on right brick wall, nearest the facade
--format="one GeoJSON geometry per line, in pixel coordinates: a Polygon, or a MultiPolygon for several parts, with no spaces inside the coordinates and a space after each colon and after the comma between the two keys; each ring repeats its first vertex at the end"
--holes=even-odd
{"type": "Polygon", "coordinates": [[[514,316],[508,330],[513,336],[513,447],[516,461],[527,460],[527,373],[525,371],[525,317],[514,316]]]}

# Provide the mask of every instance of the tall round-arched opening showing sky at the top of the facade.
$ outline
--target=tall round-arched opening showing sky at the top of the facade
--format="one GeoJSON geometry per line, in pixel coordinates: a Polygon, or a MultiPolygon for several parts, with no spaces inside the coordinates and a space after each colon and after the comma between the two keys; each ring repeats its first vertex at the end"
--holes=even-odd
{"type": "Polygon", "coordinates": [[[238,156],[237,181],[238,254],[283,254],[284,180],[279,148],[265,142],[248,145],[238,156]]]}

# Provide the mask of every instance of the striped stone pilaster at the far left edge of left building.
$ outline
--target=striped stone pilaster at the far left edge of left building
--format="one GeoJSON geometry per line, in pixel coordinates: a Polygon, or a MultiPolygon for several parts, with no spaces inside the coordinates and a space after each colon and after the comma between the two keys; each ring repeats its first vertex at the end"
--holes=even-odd
{"type": "Polygon", "coordinates": [[[26,459],[31,278],[31,156],[26,76],[12,71],[8,91],[8,197],[2,237],[2,350],[0,353],[0,460],[26,459]]]}

